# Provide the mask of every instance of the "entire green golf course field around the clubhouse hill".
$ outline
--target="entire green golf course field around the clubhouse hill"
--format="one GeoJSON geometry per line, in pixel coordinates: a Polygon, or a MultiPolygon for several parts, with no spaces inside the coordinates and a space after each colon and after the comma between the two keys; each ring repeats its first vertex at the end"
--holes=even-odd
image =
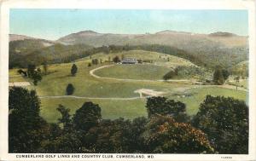
{"type": "MultiPolygon", "coordinates": [[[[152,65],[116,65],[111,68],[103,68],[96,71],[104,77],[114,78],[134,78],[134,79],[151,79],[157,80],[162,78],[165,72],[168,72],[176,62],[180,62],[182,66],[194,66],[188,60],[183,60],[175,56],[171,56],[172,60],[163,59],[166,55],[145,51],[127,51],[114,53],[110,55],[97,54],[92,59],[102,59],[102,62],[108,60],[108,57],[115,55],[125,55],[136,57],[137,59],[150,58],[154,64],[152,65]],[[141,52],[141,53],[140,53],[141,52]],[[160,58],[161,57],[161,58],[160,58]],[[141,74],[138,74],[141,73],[141,74]]],[[[170,56],[170,55],[169,55],[170,56]]],[[[56,111],[59,104],[67,106],[71,109],[71,113],[75,112],[84,101],[93,101],[102,107],[102,118],[137,118],[147,116],[145,108],[146,100],[144,98],[137,100],[105,100],[104,98],[131,98],[139,95],[134,91],[137,89],[154,89],[155,91],[165,92],[165,96],[177,101],[182,101],[187,106],[189,115],[194,115],[198,111],[200,103],[205,99],[206,95],[224,95],[232,96],[236,99],[246,101],[247,92],[235,89],[224,89],[221,87],[200,86],[193,83],[171,83],[171,82],[130,82],[119,80],[108,80],[94,78],[90,75],[90,70],[100,66],[106,66],[109,63],[104,62],[97,66],[88,66],[90,58],[78,60],[75,64],[78,66],[78,72],[75,77],[70,74],[73,63],[49,65],[49,74],[43,77],[38,86],[28,86],[27,89],[36,89],[38,95],[42,96],[59,96],[66,95],[68,83],[73,83],[75,91],[73,95],[81,97],[90,97],[97,99],[76,99],[76,98],[41,98],[42,108],[41,115],[49,122],[55,122],[60,114],[56,111]],[[102,98],[102,99],[101,99],[102,98]]],[[[27,78],[22,78],[16,72],[17,69],[9,70],[9,82],[26,82],[27,78]]]]}

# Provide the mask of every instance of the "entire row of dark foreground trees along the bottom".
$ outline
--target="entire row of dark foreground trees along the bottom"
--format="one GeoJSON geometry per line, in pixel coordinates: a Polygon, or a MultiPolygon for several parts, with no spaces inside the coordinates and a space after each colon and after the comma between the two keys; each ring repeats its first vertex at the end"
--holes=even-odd
{"type": "Polygon", "coordinates": [[[148,98],[148,118],[102,119],[101,107],[84,102],[73,116],[59,105],[57,123],[39,115],[34,90],[9,90],[9,152],[247,153],[244,101],[207,95],[194,118],[180,101],[148,98]]]}

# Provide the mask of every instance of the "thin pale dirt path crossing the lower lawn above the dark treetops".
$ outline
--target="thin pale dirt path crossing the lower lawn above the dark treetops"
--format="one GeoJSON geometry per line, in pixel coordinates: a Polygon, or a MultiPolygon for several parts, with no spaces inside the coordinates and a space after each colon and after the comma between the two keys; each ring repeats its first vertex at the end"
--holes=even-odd
{"type": "Polygon", "coordinates": [[[128,97],[128,98],[118,98],[118,97],[83,97],[76,95],[55,95],[55,96],[40,96],[40,99],[59,99],[59,98],[75,98],[75,99],[88,99],[88,100],[139,100],[143,99],[141,97],[128,97]]]}

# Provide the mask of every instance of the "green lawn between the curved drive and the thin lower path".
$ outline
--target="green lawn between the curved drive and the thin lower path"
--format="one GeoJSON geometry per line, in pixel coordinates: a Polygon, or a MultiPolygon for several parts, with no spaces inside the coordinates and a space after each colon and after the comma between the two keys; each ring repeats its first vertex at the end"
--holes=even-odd
{"type": "MultiPolygon", "coordinates": [[[[189,85],[163,82],[122,82],[115,80],[98,79],[90,76],[91,69],[98,66],[88,67],[84,61],[76,63],[79,71],[75,77],[70,76],[72,64],[61,64],[59,66],[50,66],[55,71],[38,83],[38,86],[31,86],[30,89],[36,89],[38,95],[66,95],[68,83],[73,83],[75,91],[73,95],[87,97],[134,97],[137,89],[154,89],[170,92],[173,88],[186,87],[189,85]]],[[[99,65],[104,66],[104,64],[99,65]]]]}

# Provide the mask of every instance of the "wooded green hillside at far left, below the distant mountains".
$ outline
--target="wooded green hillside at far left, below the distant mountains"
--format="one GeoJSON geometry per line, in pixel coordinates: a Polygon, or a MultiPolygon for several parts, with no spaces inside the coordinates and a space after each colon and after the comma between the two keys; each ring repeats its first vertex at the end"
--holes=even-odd
{"type": "Polygon", "coordinates": [[[91,49],[84,44],[63,45],[60,43],[48,43],[44,40],[26,39],[9,43],[9,68],[26,67],[28,64],[41,65],[47,63],[70,62],[91,49]]]}

